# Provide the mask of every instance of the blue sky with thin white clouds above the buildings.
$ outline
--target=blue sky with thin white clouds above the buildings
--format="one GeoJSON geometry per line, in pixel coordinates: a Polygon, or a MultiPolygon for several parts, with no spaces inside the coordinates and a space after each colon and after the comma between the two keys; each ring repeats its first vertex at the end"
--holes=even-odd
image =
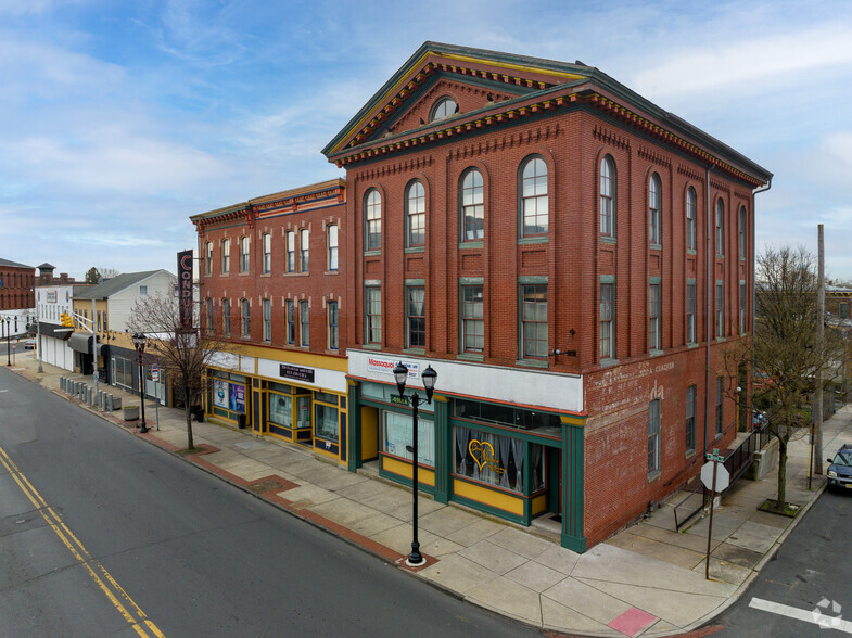
{"type": "Polygon", "coordinates": [[[189,216],[320,150],[425,40],[597,66],[775,174],[758,250],[852,281],[852,3],[0,0],[0,257],[166,268],[189,216]]]}

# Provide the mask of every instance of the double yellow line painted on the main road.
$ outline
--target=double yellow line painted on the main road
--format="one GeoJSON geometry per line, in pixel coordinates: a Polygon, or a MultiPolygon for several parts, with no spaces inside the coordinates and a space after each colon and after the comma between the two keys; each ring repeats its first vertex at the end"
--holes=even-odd
{"type": "Polygon", "coordinates": [[[60,540],[65,544],[74,558],[89,573],[89,576],[94,580],[96,585],[106,596],[110,602],[113,603],[118,613],[136,629],[136,633],[143,637],[156,636],[164,638],[163,634],[157,629],[156,625],[148,620],[144,612],[139,609],[139,605],[122,589],[120,585],[110,575],[101,563],[92,558],[82,543],[74,536],[71,529],[62,522],[62,519],[53,511],[47,501],[41,497],[38,490],[33,487],[33,484],[26,476],[17,469],[17,465],[9,458],[5,450],[0,447],[0,463],[7,469],[9,474],[14,478],[21,492],[24,493],[33,506],[38,510],[48,525],[59,536],[60,540]]]}

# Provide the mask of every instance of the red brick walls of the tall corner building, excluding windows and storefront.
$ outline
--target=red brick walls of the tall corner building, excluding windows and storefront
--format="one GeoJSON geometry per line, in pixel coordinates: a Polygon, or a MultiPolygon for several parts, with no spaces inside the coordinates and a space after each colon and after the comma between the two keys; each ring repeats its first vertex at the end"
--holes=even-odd
{"type": "MultiPolygon", "coordinates": [[[[751,331],[753,193],[772,177],[763,168],[597,69],[432,42],[323,153],[346,170],[347,289],[381,290],[381,340],[367,339],[368,311],[364,295],[356,294],[347,308],[349,347],[412,354],[435,369],[466,361],[507,374],[533,370],[548,380],[578,378],[578,404],[554,397],[522,405],[585,420],[583,467],[563,468],[561,476],[582,476],[582,487],[562,506],[577,508],[582,501],[582,512],[573,515],[586,543],[606,538],[695,475],[705,448],[733,441],[732,388],[739,383],[724,370],[722,352],[751,331]],[[445,98],[458,109],[432,119],[445,98]],[[534,158],[547,170],[547,228],[524,237],[523,171],[534,158]],[[614,237],[601,233],[605,158],[613,168],[614,237]],[[463,232],[462,182],[472,169],[482,176],[481,239],[463,232]],[[652,179],[659,184],[657,203],[652,179]],[[406,245],[407,189],[416,180],[425,193],[425,242],[417,250],[406,245]],[[687,246],[689,189],[694,247],[687,246]],[[366,200],[372,191],[381,197],[381,241],[368,246],[366,200]],[[649,208],[659,209],[659,239],[652,237],[649,208]],[[466,282],[482,285],[479,353],[466,353],[462,345],[466,282]],[[614,352],[605,359],[601,283],[614,286],[614,352]],[[651,284],[661,296],[656,344],[649,334],[651,284]],[[422,285],[425,301],[425,343],[415,348],[406,314],[410,285],[422,285]],[[546,291],[546,317],[538,318],[547,331],[546,352],[524,343],[536,328],[531,321],[524,326],[526,285],[546,291]],[[688,285],[696,299],[691,343],[688,285]],[[690,385],[696,434],[688,450],[690,385]],[[657,399],[659,460],[651,471],[649,404],[657,399]]],[[[527,308],[545,305],[531,301],[527,308]]],[[[450,398],[471,394],[465,383],[440,391],[450,398]]]]}

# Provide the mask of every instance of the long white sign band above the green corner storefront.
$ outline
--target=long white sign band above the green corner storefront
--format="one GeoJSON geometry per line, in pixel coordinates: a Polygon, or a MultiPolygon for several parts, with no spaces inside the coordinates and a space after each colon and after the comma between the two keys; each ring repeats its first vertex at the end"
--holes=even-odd
{"type": "Polygon", "coordinates": [[[408,368],[410,387],[422,388],[420,374],[428,366],[432,366],[437,372],[435,392],[438,394],[461,394],[555,410],[583,411],[583,378],[576,374],[430,360],[370,350],[348,349],[346,355],[349,359],[349,374],[360,379],[393,383],[393,368],[402,361],[408,368]]]}

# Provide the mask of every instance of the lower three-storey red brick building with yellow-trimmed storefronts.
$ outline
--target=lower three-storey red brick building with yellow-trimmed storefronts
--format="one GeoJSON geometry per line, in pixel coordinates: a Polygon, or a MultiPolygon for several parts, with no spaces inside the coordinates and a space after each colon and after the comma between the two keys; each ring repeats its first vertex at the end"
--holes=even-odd
{"type": "Polygon", "coordinates": [[[346,462],[345,182],[193,216],[202,329],[228,342],[209,418],[346,462]]]}

